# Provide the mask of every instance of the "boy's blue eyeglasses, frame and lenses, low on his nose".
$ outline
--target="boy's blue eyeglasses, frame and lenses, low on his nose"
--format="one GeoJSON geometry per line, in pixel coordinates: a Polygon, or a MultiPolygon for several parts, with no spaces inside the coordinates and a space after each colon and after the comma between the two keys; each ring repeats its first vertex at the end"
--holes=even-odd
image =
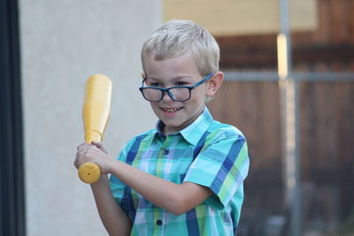
{"type": "Polygon", "coordinates": [[[190,99],[190,91],[193,88],[198,87],[203,84],[206,80],[212,78],[214,72],[206,75],[203,80],[196,82],[192,86],[175,86],[170,88],[157,88],[157,87],[143,87],[143,82],[146,80],[142,80],[142,87],[139,88],[140,92],[142,92],[143,98],[149,102],[159,102],[164,98],[165,93],[167,93],[173,101],[176,102],[185,102],[190,99]]]}

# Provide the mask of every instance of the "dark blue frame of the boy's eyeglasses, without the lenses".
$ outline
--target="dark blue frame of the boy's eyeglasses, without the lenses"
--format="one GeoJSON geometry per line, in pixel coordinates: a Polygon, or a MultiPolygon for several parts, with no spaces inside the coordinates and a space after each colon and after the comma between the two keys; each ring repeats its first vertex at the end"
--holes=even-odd
{"type": "Polygon", "coordinates": [[[144,78],[144,79],[142,80],[142,86],[139,88],[139,90],[140,90],[140,92],[142,93],[142,97],[143,97],[146,101],[149,101],[150,103],[158,103],[158,102],[160,102],[162,99],[164,99],[165,93],[167,93],[168,96],[169,96],[173,101],[176,101],[176,102],[186,102],[186,101],[188,101],[188,100],[190,99],[190,97],[192,96],[192,94],[191,94],[192,89],[198,87],[199,85],[203,84],[205,81],[211,79],[211,78],[212,78],[212,75],[214,75],[214,72],[208,73],[202,80],[196,82],[196,83],[195,83],[194,85],[192,85],[192,86],[173,86],[173,87],[169,87],[169,88],[143,87],[144,81],[148,79],[148,78],[144,78]],[[154,88],[154,89],[160,90],[160,91],[161,91],[161,98],[160,98],[160,100],[158,100],[158,101],[150,101],[149,99],[147,99],[147,98],[144,96],[143,92],[142,92],[142,90],[143,90],[144,88],[154,88]],[[184,100],[175,100],[175,99],[173,99],[173,95],[170,93],[170,89],[172,89],[172,88],[188,88],[188,89],[189,89],[189,98],[184,99],[184,100]]]}

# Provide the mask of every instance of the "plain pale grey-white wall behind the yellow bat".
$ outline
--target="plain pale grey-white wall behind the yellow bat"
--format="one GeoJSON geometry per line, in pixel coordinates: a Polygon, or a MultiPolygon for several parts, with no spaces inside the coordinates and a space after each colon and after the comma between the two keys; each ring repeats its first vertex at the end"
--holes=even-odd
{"type": "Polygon", "coordinates": [[[83,88],[97,72],[112,79],[104,136],[112,156],[155,126],[137,88],[140,49],[160,24],[160,0],[20,0],[19,17],[27,235],[106,235],[89,185],[73,167],[83,142],[83,88]]]}

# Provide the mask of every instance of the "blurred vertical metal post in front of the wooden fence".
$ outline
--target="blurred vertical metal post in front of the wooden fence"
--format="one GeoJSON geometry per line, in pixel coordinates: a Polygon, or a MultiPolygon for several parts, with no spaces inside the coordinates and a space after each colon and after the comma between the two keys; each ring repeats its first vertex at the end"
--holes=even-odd
{"type": "Polygon", "coordinates": [[[289,0],[280,0],[281,33],[278,34],[278,74],[281,94],[281,123],[284,155],[285,203],[290,219],[290,235],[301,233],[301,202],[298,158],[298,84],[292,74],[289,33],[289,0]]]}

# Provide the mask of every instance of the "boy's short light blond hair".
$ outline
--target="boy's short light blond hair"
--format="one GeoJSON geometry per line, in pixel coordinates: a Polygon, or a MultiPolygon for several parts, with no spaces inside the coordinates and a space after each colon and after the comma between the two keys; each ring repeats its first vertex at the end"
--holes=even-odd
{"type": "Polygon", "coordinates": [[[190,20],[165,22],[142,45],[142,69],[151,54],[155,60],[165,60],[192,51],[196,67],[202,76],[219,71],[219,45],[204,27],[190,20]]]}

